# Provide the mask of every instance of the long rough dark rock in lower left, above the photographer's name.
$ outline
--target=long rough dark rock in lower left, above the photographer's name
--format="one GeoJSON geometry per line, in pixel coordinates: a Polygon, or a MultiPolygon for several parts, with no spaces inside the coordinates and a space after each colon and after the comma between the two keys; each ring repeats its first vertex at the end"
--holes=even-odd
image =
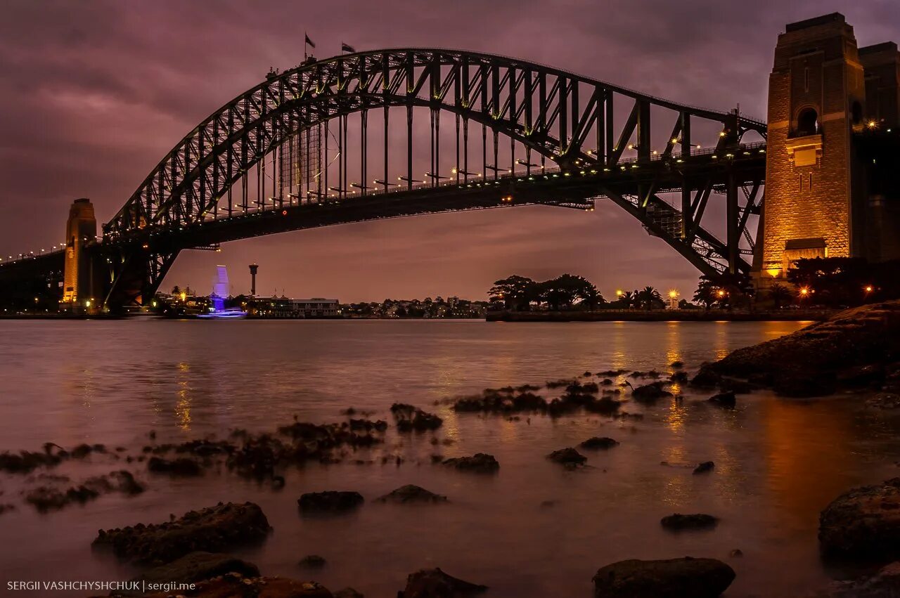
{"type": "Polygon", "coordinates": [[[94,545],[111,546],[121,558],[167,563],[196,550],[221,552],[263,540],[271,529],[257,504],[220,503],[171,522],[100,530],[94,545]]]}

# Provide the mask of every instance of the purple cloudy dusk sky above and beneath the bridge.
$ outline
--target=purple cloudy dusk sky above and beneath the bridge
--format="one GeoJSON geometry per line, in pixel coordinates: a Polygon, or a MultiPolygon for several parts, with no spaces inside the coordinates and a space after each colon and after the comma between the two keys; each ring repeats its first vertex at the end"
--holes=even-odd
{"type": "MultiPolygon", "coordinates": [[[[784,24],[840,11],[857,40],[900,40],[896,0],[672,2],[175,2],[6,0],[0,19],[0,254],[49,247],[67,207],[110,219],[184,134],[270,66],[356,49],[474,49],[568,70],[677,102],[765,117],[784,24]]],[[[483,299],[509,273],[574,272],[610,298],[652,284],[692,294],[698,273],[608,202],[594,212],[541,207],[392,219],[184,252],[163,288],[381,300],[483,299]]]]}

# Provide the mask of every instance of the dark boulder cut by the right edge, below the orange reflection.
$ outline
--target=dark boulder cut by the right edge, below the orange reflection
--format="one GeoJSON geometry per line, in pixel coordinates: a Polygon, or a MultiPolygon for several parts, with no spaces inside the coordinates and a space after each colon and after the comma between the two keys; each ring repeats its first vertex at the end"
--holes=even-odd
{"type": "Polygon", "coordinates": [[[900,556],[900,478],[835,498],[819,516],[819,546],[831,557],[884,562],[900,556]]]}

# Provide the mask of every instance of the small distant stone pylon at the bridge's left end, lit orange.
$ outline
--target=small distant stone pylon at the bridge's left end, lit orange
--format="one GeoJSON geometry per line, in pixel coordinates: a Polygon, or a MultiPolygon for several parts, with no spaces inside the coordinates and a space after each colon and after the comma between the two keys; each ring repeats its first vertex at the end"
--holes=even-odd
{"type": "Polygon", "coordinates": [[[97,235],[94,205],[88,199],[76,200],[68,210],[66,222],[66,262],[62,301],[75,311],[96,308],[93,297],[94,276],[85,245],[97,235]]]}

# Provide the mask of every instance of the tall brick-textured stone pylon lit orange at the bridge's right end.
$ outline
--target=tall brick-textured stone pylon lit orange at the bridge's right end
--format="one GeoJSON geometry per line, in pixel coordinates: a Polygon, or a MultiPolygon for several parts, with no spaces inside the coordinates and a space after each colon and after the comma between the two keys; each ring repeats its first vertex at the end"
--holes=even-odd
{"type": "Polygon", "coordinates": [[[769,79],[761,286],[808,257],[863,254],[865,209],[854,130],[864,127],[865,73],[840,13],[788,24],[769,79]],[[854,200],[855,198],[855,200],[854,200]]]}

